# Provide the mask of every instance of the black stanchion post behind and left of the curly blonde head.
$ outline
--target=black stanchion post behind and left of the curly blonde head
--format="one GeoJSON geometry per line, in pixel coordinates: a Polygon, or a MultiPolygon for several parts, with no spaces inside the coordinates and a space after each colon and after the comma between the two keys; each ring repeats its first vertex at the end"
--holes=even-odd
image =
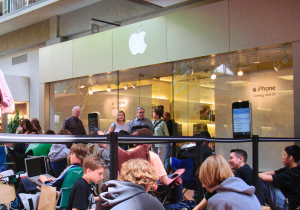
{"type": "Polygon", "coordinates": [[[118,133],[111,132],[107,135],[110,142],[110,180],[118,178],[118,133]]]}

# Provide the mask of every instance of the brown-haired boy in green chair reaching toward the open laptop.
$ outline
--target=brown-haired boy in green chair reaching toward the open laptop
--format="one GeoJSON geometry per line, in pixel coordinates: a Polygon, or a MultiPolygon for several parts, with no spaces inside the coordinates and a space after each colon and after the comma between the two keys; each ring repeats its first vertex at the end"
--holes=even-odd
{"type": "MultiPolygon", "coordinates": [[[[89,155],[88,146],[85,144],[75,144],[70,151],[70,166],[68,166],[57,178],[47,178],[45,175],[40,175],[38,180],[47,186],[56,187],[56,190],[60,190],[60,187],[64,181],[64,178],[69,169],[73,167],[81,167],[83,159],[89,155]]],[[[19,193],[37,193],[40,191],[37,189],[37,184],[30,181],[28,178],[22,179],[17,194],[19,193]]]]}

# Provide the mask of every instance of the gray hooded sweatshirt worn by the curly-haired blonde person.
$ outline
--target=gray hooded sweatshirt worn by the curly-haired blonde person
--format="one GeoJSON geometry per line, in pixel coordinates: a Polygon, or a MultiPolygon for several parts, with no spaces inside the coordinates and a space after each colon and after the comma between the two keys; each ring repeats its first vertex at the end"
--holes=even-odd
{"type": "Polygon", "coordinates": [[[108,181],[101,187],[96,210],[165,210],[145,189],[131,182],[108,181]]]}

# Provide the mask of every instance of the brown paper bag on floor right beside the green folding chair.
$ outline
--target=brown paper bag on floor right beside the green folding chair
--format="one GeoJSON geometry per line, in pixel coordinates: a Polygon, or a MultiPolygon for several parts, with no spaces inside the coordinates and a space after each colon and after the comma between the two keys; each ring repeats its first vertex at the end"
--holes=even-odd
{"type": "Polygon", "coordinates": [[[56,209],[56,187],[42,185],[38,210],[56,209]]]}

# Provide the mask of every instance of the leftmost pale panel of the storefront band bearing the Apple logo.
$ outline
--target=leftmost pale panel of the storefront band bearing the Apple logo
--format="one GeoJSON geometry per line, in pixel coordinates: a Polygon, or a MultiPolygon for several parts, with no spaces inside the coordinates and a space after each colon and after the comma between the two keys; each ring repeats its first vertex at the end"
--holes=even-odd
{"type": "Polygon", "coordinates": [[[40,49],[40,83],[72,78],[72,41],[40,49]]]}

